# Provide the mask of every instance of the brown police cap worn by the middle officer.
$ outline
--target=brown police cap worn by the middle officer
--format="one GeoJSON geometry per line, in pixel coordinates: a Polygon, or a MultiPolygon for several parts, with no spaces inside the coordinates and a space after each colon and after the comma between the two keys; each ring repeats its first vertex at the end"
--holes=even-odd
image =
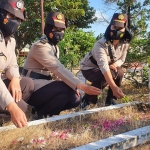
{"type": "Polygon", "coordinates": [[[66,28],[64,15],[60,12],[51,12],[46,18],[46,24],[59,28],[66,28]]]}

